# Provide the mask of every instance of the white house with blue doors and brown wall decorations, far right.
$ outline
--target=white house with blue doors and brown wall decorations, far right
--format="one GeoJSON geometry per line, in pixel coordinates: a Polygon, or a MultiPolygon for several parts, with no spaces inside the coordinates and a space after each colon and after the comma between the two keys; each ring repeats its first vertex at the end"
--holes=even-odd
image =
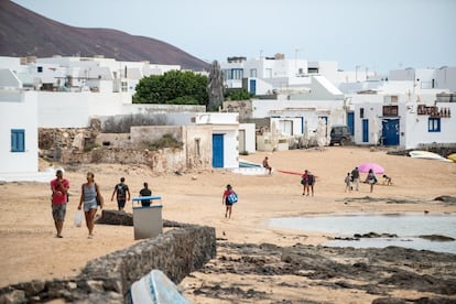
{"type": "Polygon", "coordinates": [[[357,144],[415,149],[456,143],[452,96],[448,89],[416,87],[416,82],[388,82],[376,90],[348,95],[348,124],[357,144]]]}

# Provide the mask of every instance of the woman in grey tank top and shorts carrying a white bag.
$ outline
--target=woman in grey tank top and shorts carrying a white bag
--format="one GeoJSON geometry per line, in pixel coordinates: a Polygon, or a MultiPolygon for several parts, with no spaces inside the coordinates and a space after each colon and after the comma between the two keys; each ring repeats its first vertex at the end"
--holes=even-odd
{"type": "Polygon", "coordinates": [[[95,183],[95,175],[91,172],[87,173],[87,183],[80,186],[78,210],[82,209],[83,204],[86,225],[89,232],[88,238],[91,239],[94,238],[95,215],[97,214],[98,204],[100,209],[102,209],[104,205],[100,187],[95,183]]]}

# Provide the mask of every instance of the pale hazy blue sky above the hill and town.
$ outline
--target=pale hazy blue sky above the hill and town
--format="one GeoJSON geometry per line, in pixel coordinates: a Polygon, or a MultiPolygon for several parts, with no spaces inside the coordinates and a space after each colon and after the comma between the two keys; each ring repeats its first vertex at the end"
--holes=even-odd
{"type": "Polygon", "coordinates": [[[455,0],[14,0],[46,18],[167,42],[200,59],[283,53],[388,72],[456,66],[455,0]]]}

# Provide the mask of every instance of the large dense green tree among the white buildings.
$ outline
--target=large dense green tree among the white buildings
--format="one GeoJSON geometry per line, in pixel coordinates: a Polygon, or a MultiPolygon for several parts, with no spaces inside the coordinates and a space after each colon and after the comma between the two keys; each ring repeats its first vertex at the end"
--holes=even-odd
{"type": "Polygon", "coordinates": [[[142,78],[133,104],[208,105],[207,76],[193,72],[170,70],[142,78]]]}

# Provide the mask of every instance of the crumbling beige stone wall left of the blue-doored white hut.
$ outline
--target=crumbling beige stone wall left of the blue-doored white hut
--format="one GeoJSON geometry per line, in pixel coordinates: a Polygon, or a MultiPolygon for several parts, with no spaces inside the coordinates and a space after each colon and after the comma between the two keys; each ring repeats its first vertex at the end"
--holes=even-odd
{"type": "Polygon", "coordinates": [[[40,156],[64,164],[144,164],[156,173],[211,169],[210,126],[132,127],[131,133],[106,134],[97,128],[40,129],[40,156]],[[145,142],[172,134],[182,148],[149,150],[145,142]]]}

